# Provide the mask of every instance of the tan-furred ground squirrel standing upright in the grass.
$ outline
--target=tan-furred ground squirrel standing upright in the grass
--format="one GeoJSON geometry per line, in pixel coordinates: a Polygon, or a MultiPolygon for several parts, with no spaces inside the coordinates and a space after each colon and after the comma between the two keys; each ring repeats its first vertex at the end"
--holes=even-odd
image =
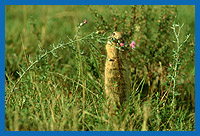
{"type": "MultiPolygon", "coordinates": [[[[114,32],[113,34],[112,38],[122,39],[122,33],[114,32]]],[[[120,47],[120,44],[114,41],[108,41],[106,44],[105,92],[111,105],[115,102],[119,107],[128,98],[129,68],[127,51],[121,51],[115,46],[120,47]]]]}

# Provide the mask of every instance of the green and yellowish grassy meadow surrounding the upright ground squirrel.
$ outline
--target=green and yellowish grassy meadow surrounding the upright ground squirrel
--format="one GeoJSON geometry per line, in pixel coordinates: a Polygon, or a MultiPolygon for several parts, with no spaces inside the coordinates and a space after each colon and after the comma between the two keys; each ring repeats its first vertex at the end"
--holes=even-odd
{"type": "MultiPolygon", "coordinates": [[[[177,41],[173,43],[170,36],[174,37],[174,34],[171,31],[165,41],[175,51],[171,50],[169,55],[176,54],[182,61],[179,63],[177,57],[158,57],[162,62],[161,67],[167,69],[165,72],[171,76],[165,77],[165,85],[158,86],[164,89],[150,90],[148,83],[155,79],[148,77],[137,64],[143,64],[141,60],[146,58],[135,55],[139,50],[131,52],[130,97],[113,117],[108,115],[104,94],[104,45],[113,29],[109,29],[105,35],[98,35],[97,30],[106,31],[106,28],[100,28],[105,24],[101,24],[101,16],[94,17],[94,12],[89,8],[101,14],[108,24],[113,24],[111,15],[115,8],[119,13],[131,11],[131,6],[6,6],[6,131],[194,131],[195,58],[194,50],[189,48],[194,48],[194,6],[177,6],[176,21],[172,20],[172,23],[185,24],[181,38],[191,34],[188,42],[183,44],[184,50],[175,48],[180,44],[177,41]],[[77,27],[84,19],[87,19],[87,24],[77,27]],[[173,62],[170,63],[171,69],[168,68],[169,62],[173,62]],[[138,68],[136,71],[134,66],[138,68]],[[174,70],[176,66],[180,70],[174,70]],[[151,93],[146,95],[145,92],[151,93]]],[[[149,9],[143,13],[140,8],[134,14],[139,14],[139,17],[140,14],[146,15],[143,18],[141,15],[140,22],[145,18],[148,20],[149,16],[156,19],[146,21],[147,25],[165,19],[163,6],[151,8],[152,15],[148,15],[149,9]]],[[[140,26],[140,22],[136,26],[140,26]]],[[[149,29],[156,33],[157,27],[153,25],[149,29]]],[[[171,30],[171,27],[166,29],[171,30]]],[[[148,32],[145,29],[134,33],[148,37],[148,32]]],[[[140,45],[138,48],[142,48],[142,44],[148,45],[150,48],[146,50],[150,54],[148,50],[154,48],[156,40],[151,38],[148,41],[146,37],[139,39],[138,35],[133,36],[136,44],[140,45]],[[145,38],[146,44],[143,42],[145,38]]],[[[155,59],[152,66],[159,61],[155,59]]],[[[148,59],[146,62],[149,62],[148,59]]]]}

